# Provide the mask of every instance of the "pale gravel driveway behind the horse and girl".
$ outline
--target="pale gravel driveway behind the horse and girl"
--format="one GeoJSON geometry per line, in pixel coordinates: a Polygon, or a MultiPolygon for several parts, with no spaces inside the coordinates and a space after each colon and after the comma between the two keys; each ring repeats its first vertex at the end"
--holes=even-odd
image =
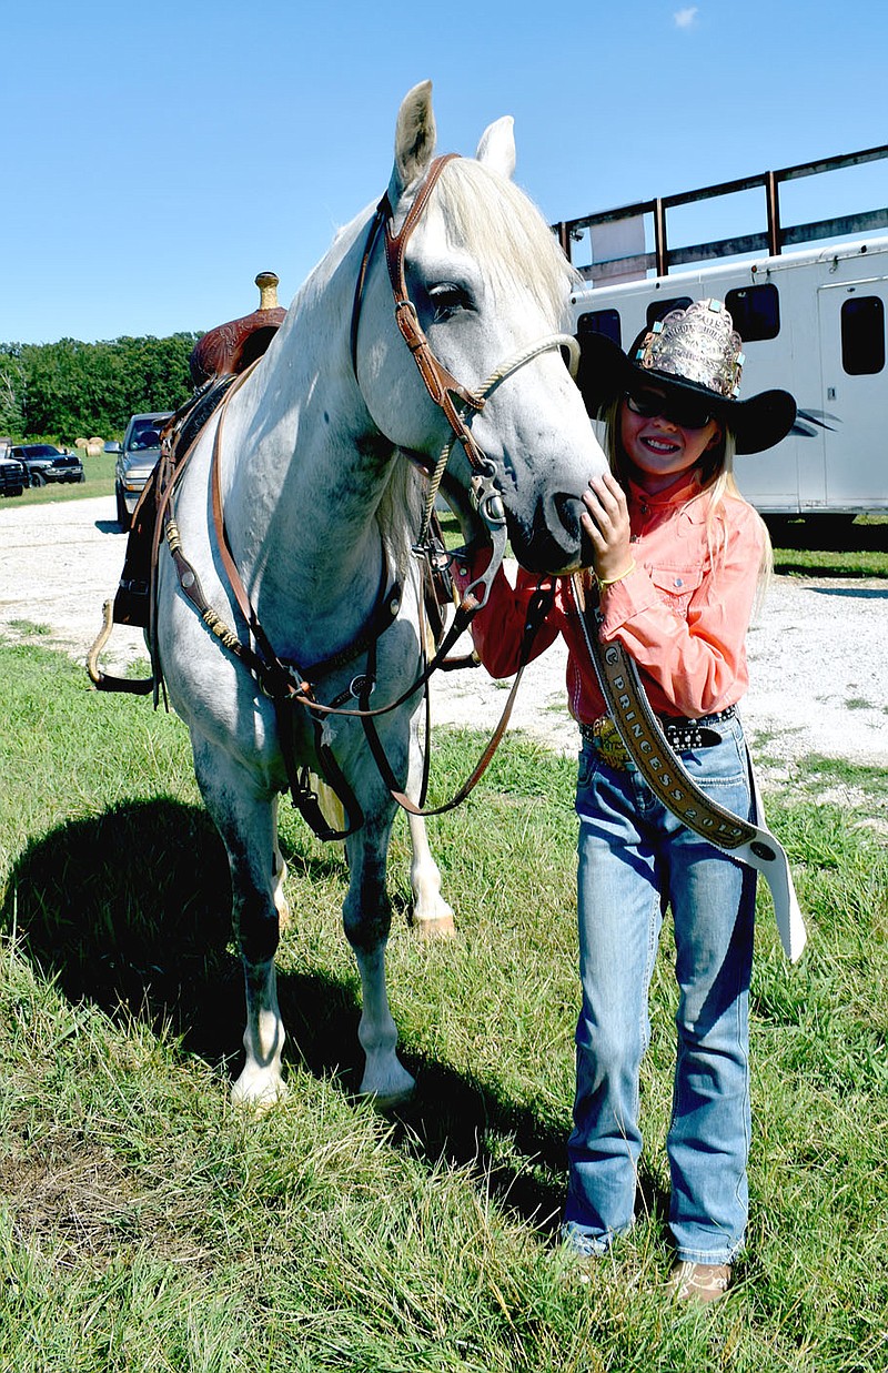
{"type": "MultiPolygon", "coordinates": [[[[0,507],[0,634],[54,644],[84,660],[124,566],[126,535],[111,497],[0,507]]],[[[888,581],[777,577],[749,632],[744,721],[769,758],[810,752],[888,768],[888,581]]],[[[115,626],[103,665],[145,656],[141,634],[115,626]]],[[[574,752],[559,643],[524,674],[511,728],[574,752]]],[[[504,684],[483,669],[439,674],[434,718],[491,729],[504,684]]]]}

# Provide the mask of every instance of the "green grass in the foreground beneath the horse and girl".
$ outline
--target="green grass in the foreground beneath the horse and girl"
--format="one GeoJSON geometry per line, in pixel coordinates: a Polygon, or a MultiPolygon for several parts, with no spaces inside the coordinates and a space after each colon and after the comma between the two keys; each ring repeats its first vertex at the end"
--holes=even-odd
{"type": "MultiPolygon", "coordinates": [[[[432,822],[450,943],[408,930],[397,825],[388,967],[419,1094],[391,1119],[353,1096],[342,851],[283,809],[290,1096],[257,1120],[228,1100],[243,994],[184,728],[37,645],[0,645],[0,1368],[888,1368],[888,858],[866,827],[884,778],[811,759],[769,798],[810,947],[786,965],[762,892],[748,1249],[722,1306],[677,1311],[668,936],[641,1223],[586,1285],[553,1238],[578,1000],[570,759],[512,737],[432,822]],[[856,800],[818,803],[833,781],[856,800]]],[[[479,746],[436,736],[438,798],[479,746]]]]}

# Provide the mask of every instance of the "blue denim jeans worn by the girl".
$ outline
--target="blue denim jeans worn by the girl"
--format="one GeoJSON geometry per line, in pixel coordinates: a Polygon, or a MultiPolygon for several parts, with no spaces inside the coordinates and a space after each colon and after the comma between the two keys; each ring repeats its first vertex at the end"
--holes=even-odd
{"type": "MultiPolygon", "coordinates": [[[[714,799],[751,817],[740,719],[715,728],[722,743],[685,752],[682,762],[714,799]]],[[[730,1262],[748,1211],[755,872],[685,828],[631,765],[611,769],[590,743],[579,758],[576,813],[582,1009],[565,1236],[582,1252],[603,1254],[633,1223],[638,1076],[668,905],[679,987],[670,1229],[679,1259],[730,1262]]]]}

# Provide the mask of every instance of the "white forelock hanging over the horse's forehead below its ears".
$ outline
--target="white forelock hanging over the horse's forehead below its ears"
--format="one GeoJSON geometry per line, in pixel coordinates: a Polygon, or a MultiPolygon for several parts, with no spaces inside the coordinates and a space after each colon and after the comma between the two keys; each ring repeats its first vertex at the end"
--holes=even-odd
{"type": "Polygon", "coordinates": [[[447,236],[483,261],[497,290],[530,290],[561,324],[579,280],[534,202],[472,158],[454,158],[439,181],[447,236]]]}

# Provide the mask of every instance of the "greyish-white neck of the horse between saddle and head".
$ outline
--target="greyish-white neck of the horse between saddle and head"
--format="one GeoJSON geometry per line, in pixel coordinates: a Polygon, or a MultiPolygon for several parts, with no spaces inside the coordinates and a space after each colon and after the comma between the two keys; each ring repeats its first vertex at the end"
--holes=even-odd
{"type": "Polygon", "coordinates": [[[349,277],[309,283],[225,420],[226,526],[273,616],[294,604],[342,616],[344,603],[360,618],[379,582],[393,452],[350,376],[349,277]]]}

